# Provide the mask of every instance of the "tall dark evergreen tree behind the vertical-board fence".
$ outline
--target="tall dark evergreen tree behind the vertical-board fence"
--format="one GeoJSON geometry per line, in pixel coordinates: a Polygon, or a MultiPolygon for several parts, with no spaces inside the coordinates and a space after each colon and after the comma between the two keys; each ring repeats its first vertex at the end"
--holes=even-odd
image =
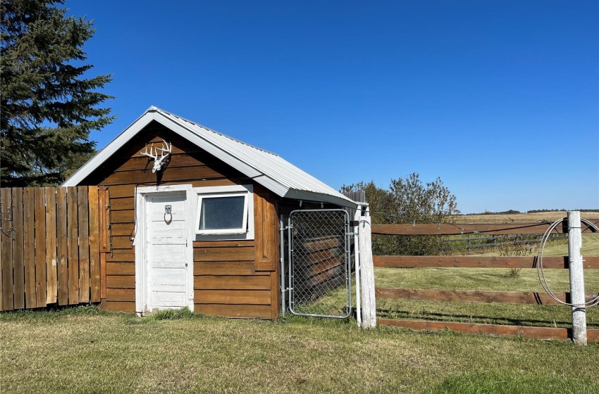
{"type": "Polygon", "coordinates": [[[82,45],[92,23],[66,17],[63,0],[0,3],[0,176],[3,187],[63,182],[95,152],[89,132],[112,122],[97,89],[110,75],[87,77],[82,45]],[[85,75],[85,76],[84,76],[85,75]]]}

